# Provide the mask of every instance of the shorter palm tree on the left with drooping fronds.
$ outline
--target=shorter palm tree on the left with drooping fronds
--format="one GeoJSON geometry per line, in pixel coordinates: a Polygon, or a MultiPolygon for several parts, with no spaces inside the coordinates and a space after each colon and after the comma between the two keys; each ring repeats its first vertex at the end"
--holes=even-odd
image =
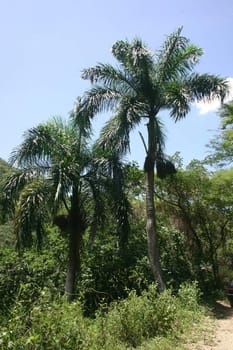
{"type": "MultiPolygon", "coordinates": [[[[53,222],[68,237],[65,293],[71,301],[80,272],[80,248],[89,227],[94,239],[104,223],[104,206],[113,209],[120,245],[129,231],[128,200],[119,156],[90,149],[91,123],[80,110],[80,99],[68,122],[54,118],[28,130],[11,155],[15,172],[5,193],[13,199],[17,244],[30,246],[33,232],[40,245],[44,224],[53,222]]],[[[122,243],[122,244],[121,244],[122,243]]]]}

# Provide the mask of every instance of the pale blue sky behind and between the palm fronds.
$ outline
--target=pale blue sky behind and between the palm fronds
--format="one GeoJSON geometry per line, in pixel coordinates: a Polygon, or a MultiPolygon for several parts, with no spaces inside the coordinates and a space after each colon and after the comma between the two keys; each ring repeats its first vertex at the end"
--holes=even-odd
{"type": "MultiPolygon", "coordinates": [[[[232,0],[0,0],[0,157],[8,159],[28,128],[68,116],[90,86],[82,69],[113,63],[116,40],[137,36],[156,50],[182,25],[183,35],[204,49],[196,70],[233,77],[232,23],[232,0]]],[[[216,113],[194,106],[177,124],[162,117],[166,152],[180,151],[185,163],[203,159],[219,126],[216,113]]],[[[97,116],[96,133],[106,118],[97,116]]],[[[142,164],[137,132],[131,150],[130,159],[142,164]]]]}

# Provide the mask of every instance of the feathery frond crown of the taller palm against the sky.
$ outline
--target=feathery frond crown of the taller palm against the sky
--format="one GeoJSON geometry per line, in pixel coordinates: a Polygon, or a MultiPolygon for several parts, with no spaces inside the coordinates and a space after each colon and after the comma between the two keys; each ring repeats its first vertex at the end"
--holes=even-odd
{"type": "Polygon", "coordinates": [[[203,51],[181,36],[181,28],[156,53],[139,39],[132,43],[117,41],[112,53],[117,67],[98,64],[84,70],[83,79],[89,79],[94,86],[86,93],[83,105],[92,116],[115,111],[102,139],[109,145],[112,139],[114,143],[118,141],[122,152],[129,150],[129,133],[142,119],[154,119],[161,140],[159,111],[169,109],[177,121],[187,115],[192,102],[214,97],[223,100],[227,93],[223,78],[193,73],[203,51]]]}

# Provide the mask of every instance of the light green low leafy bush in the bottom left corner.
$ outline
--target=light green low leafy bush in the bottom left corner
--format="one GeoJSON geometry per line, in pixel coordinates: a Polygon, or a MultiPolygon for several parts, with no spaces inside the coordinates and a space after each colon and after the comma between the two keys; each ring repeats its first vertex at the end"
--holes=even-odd
{"type": "Polygon", "coordinates": [[[68,304],[63,299],[51,302],[44,290],[29,313],[22,313],[20,304],[1,335],[2,349],[88,349],[88,322],[82,316],[79,303],[68,304]]]}

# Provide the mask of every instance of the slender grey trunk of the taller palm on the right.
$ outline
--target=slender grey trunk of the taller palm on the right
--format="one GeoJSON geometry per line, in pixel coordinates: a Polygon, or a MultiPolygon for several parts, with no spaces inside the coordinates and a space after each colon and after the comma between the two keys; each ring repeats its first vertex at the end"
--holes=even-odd
{"type": "Polygon", "coordinates": [[[160,254],[158,247],[158,233],[156,227],[155,203],[154,203],[154,168],[156,160],[156,130],[153,116],[150,118],[147,125],[148,130],[148,150],[147,157],[144,164],[144,171],[146,173],[146,231],[148,255],[150,259],[151,269],[158,283],[159,291],[163,291],[166,285],[163,281],[162,269],[160,266],[160,254]]]}

